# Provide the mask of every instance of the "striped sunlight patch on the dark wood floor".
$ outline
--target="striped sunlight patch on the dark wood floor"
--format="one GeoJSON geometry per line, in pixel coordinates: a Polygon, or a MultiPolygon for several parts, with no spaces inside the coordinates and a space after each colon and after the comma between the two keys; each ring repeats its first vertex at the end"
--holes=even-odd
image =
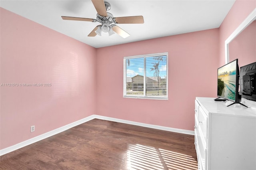
{"type": "Polygon", "coordinates": [[[190,155],[152,146],[129,144],[127,151],[129,170],[197,170],[197,161],[190,155]]]}

